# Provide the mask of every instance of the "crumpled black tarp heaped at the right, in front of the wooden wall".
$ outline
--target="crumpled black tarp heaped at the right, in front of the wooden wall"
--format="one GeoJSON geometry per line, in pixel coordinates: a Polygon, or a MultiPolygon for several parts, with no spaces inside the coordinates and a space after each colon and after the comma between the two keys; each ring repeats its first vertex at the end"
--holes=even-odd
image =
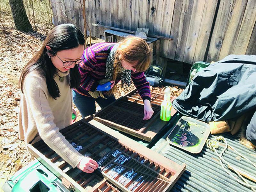
{"type": "Polygon", "coordinates": [[[255,64],[255,55],[229,55],[209,65],[196,74],[173,107],[205,122],[242,115],[256,107],[255,64]]]}

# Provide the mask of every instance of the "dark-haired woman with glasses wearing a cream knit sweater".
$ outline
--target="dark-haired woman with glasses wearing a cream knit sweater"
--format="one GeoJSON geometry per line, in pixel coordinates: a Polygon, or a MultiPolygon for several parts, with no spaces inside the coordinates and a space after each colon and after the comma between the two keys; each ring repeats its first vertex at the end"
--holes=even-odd
{"type": "Polygon", "coordinates": [[[20,76],[19,137],[26,144],[40,138],[73,168],[86,173],[96,161],[76,151],[60,133],[72,122],[72,92],[80,84],[84,35],[72,24],[54,27],[20,76]]]}

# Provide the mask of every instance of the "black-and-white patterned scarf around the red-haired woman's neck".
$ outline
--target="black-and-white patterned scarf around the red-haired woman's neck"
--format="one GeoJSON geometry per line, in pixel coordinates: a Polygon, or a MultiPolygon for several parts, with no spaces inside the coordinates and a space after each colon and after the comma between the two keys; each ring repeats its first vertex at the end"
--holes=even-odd
{"type": "MultiPolygon", "coordinates": [[[[116,50],[118,48],[119,44],[117,43],[114,45],[112,50],[110,51],[107,62],[106,62],[106,79],[112,79],[113,78],[113,72],[114,72],[114,61],[116,56],[116,50]]],[[[125,86],[130,87],[131,85],[131,77],[132,77],[132,71],[128,69],[124,69],[121,67],[121,81],[122,81],[122,88],[125,86]]],[[[118,72],[118,73],[120,73],[118,72]]]]}

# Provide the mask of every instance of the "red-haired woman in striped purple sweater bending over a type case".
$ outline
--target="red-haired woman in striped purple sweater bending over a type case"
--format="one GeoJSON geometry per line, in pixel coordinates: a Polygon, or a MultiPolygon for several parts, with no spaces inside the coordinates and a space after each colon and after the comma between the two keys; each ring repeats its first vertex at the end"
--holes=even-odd
{"type": "Polygon", "coordinates": [[[84,61],[79,64],[81,85],[73,89],[73,101],[82,117],[95,113],[95,101],[104,108],[115,101],[115,85],[134,83],[144,101],[144,117],[154,111],[150,106],[150,89],[144,71],[150,63],[150,51],[145,40],[129,36],[120,43],[97,43],[88,47],[84,61]],[[132,82],[131,82],[132,81],[132,82]]]}

